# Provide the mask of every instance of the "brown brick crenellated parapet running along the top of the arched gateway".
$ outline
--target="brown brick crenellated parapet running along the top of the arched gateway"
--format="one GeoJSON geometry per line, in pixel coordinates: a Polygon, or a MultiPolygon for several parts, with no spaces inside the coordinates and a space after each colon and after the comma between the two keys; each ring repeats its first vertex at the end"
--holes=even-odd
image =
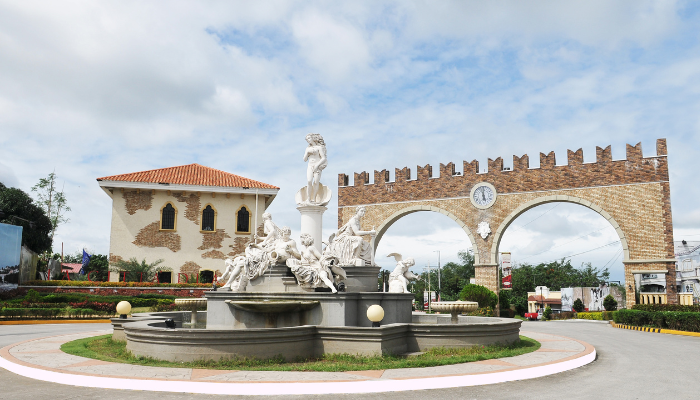
{"type": "MultiPolygon", "coordinates": [[[[488,182],[499,194],[544,190],[574,189],[634,183],[667,182],[666,139],[656,142],[656,155],[644,157],[642,144],[627,145],[626,159],[612,159],[611,146],[596,147],[596,161],[585,163],[583,149],[567,151],[567,163],[557,165],[555,153],[540,153],[540,166],[530,167],[527,154],[513,156],[513,167],[504,168],[503,158],[488,159],[487,172],[479,171],[479,162],[464,161],[462,171],[455,164],[440,164],[439,176],[431,165],[417,166],[415,176],[408,167],[396,168],[390,181],[389,170],[374,171],[373,181],[366,171],[338,176],[340,207],[468,196],[476,183],[488,182]]],[[[436,171],[438,172],[438,171],[436,171]]]]}

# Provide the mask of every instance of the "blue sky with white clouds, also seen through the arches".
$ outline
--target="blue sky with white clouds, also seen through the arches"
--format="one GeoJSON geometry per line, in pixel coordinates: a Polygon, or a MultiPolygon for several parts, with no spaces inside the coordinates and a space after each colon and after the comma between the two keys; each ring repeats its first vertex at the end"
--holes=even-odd
{"type": "MultiPolygon", "coordinates": [[[[54,249],[109,252],[96,178],[199,163],[276,186],[298,232],[308,132],[339,173],[655,141],[669,149],[676,240],[700,238],[700,5],[686,1],[0,1],[0,181],[55,171],[72,211],[54,249]]],[[[415,173],[415,172],[414,172],[415,173]]],[[[336,229],[337,196],[324,215],[336,229]]],[[[296,235],[298,237],[298,234],[296,235]]],[[[547,204],[520,216],[514,262],[574,256],[622,280],[614,230],[547,204]]],[[[411,214],[384,254],[457,261],[455,223],[411,214]]]]}

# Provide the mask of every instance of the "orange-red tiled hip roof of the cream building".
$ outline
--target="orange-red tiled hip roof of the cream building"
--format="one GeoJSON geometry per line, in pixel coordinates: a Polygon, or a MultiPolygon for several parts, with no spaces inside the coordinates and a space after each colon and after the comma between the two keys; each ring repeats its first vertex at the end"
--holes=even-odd
{"type": "Polygon", "coordinates": [[[242,176],[218,169],[205,167],[199,164],[188,164],[181,165],[179,167],[160,168],[152,169],[150,171],[132,172],[130,174],[105,176],[103,178],[97,178],[97,180],[279,189],[277,186],[268,185],[267,183],[254,181],[252,179],[244,178],[242,176]]]}

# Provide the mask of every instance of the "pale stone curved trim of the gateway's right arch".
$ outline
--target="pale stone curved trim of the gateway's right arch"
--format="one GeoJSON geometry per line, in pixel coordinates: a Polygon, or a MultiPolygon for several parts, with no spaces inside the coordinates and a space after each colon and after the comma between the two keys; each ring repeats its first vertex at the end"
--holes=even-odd
{"type": "Polygon", "coordinates": [[[580,204],[586,208],[589,208],[598,214],[600,214],[603,218],[605,218],[610,225],[612,225],[613,228],[615,228],[615,232],[617,232],[617,236],[620,237],[620,244],[622,245],[622,252],[624,256],[624,261],[628,261],[630,259],[630,253],[629,253],[629,246],[627,244],[627,237],[625,235],[625,232],[622,231],[620,228],[620,224],[615,221],[615,219],[602,209],[600,206],[593,204],[592,202],[579,198],[579,197],[574,197],[574,196],[561,196],[561,195],[556,195],[556,196],[542,196],[538,197],[536,199],[532,199],[526,203],[521,204],[519,207],[517,207],[515,210],[513,210],[510,214],[508,214],[507,217],[503,219],[503,222],[501,222],[500,226],[494,233],[494,238],[493,238],[493,243],[491,245],[491,259],[494,260],[496,263],[498,263],[498,248],[501,245],[501,238],[503,238],[503,233],[505,232],[506,229],[510,226],[510,224],[518,218],[520,215],[522,215],[525,211],[530,210],[534,207],[547,204],[547,203],[572,203],[572,204],[580,204]]]}

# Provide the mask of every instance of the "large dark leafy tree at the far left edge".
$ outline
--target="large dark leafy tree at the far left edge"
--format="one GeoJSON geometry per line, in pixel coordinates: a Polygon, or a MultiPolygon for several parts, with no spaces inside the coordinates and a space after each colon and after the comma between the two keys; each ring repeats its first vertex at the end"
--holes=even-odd
{"type": "Polygon", "coordinates": [[[22,245],[35,253],[51,249],[51,221],[20,189],[0,183],[0,222],[22,226],[22,245]]]}

